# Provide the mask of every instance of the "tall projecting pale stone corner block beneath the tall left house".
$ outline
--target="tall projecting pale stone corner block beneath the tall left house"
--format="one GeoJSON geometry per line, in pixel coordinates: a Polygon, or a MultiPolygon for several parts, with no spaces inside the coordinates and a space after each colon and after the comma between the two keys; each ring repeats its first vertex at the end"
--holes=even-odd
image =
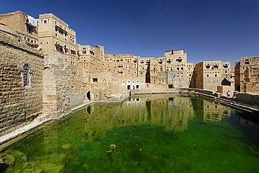
{"type": "Polygon", "coordinates": [[[45,56],[43,71],[43,114],[60,116],[71,110],[69,86],[62,56],[45,56]]]}

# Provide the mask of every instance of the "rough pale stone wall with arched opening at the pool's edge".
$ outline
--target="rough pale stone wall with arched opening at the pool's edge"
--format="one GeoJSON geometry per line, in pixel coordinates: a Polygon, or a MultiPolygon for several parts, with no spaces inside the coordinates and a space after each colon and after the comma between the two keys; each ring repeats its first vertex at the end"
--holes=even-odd
{"type": "Polygon", "coordinates": [[[45,56],[43,70],[43,114],[62,116],[85,101],[107,100],[118,89],[118,75],[88,72],[66,64],[62,56],[45,56]]]}

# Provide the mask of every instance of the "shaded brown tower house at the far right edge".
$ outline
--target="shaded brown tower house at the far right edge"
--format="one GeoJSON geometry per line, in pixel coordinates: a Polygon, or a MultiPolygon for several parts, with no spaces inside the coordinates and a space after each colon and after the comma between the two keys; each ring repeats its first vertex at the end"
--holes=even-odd
{"type": "MultiPolygon", "coordinates": [[[[240,61],[235,65],[235,90],[241,92],[249,92],[250,90],[254,92],[258,92],[259,88],[256,85],[256,80],[250,80],[247,77],[256,76],[259,68],[259,57],[241,57],[240,61]],[[246,74],[248,73],[248,74],[246,74]],[[253,82],[252,82],[253,81],[253,82]],[[245,85],[248,83],[254,83],[253,89],[251,87],[246,87],[245,85]],[[251,88],[251,89],[248,89],[251,88]]],[[[259,74],[257,74],[259,76],[259,74]]]]}

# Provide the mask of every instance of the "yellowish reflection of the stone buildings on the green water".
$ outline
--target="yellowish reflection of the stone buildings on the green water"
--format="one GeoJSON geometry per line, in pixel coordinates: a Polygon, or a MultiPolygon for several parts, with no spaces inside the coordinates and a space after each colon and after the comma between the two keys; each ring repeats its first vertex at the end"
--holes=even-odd
{"type": "MultiPolygon", "coordinates": [[[[25,144],[15,145],[20,145],[21,153],[28,158],[35,157],[42,166],[48,163],[55,170],[65,169],[70,167],[69,163],[78,160],[80,147],[106,137],[113,128],[151,125],[184,132],[192,119],[221,123],[224,116],[230,116],[230,111],[228,106],[195,95],[132,96],[122,104],[88,105],[33,133],[25,139],[25,144]]],[[[255,121],[254,116],[245,119],[243,113],[236,111],[235,114],[241,123],[255,121]]]]}

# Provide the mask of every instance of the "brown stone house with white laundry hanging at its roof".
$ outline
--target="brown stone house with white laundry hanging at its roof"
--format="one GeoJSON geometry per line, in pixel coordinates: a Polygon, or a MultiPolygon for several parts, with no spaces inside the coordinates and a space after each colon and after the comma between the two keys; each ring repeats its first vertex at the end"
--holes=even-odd
{"type": "Polygon", "coordinates": [[[0,24],[18,31],[19,42],[26,43],[30,47],[38,47],[38,22],[34,17],[16,11],[0,15],[0,24]]]}

